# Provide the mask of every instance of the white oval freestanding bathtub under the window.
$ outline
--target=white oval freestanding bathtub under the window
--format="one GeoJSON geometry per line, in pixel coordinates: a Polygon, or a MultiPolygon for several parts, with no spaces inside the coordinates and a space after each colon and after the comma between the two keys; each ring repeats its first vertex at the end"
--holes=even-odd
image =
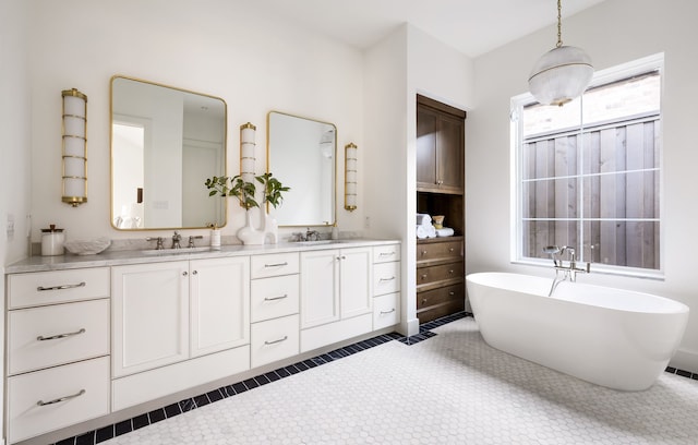
{"type": "Polygon", "coordinates": [[[466,277],[488,345],[575,377],[647,389],[684,335],[688,306],[649,293],[506,273],[466,277]]]}

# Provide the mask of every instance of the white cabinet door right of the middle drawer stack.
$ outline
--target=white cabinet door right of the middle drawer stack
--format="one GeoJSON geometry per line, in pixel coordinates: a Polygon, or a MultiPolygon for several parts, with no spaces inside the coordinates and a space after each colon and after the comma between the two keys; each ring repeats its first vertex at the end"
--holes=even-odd
{"type": "Polygon", "coordinates": [[[339,251],[301,252],[301,328],[339,320],[339,251]]]}

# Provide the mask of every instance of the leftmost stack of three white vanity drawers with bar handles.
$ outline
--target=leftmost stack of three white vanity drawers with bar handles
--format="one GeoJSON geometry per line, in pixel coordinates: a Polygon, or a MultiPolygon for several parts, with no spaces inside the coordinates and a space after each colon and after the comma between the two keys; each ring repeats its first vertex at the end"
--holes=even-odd
{"type": "Polygon", "coordinates": [[[109,413],[109,268],[7,278],[7,437],[109,413]]]}

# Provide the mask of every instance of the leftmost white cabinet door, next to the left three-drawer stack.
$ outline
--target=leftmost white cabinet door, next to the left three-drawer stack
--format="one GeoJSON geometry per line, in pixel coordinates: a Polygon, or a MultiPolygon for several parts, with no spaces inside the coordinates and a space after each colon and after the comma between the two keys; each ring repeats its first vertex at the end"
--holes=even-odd
{"type": "Polygon", "coordinates": [[[189,262],[111,268],[112,376],[189,357],[189,262]]]}

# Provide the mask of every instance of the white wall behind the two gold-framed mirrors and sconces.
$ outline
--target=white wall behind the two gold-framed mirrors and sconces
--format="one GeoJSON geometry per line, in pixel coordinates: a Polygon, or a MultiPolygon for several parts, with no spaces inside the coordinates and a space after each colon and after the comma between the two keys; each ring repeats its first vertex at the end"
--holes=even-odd
{"type": "MultiPolygon", "coordinates": [[[[335,123],[339,147],[350,141],[362,145],[361,52],[261,15],[253,3],[31,1],[35,241],[49,222],[65,228],[68,238],[145,237],[109,225],[109,80],[115,74],[225,99],[230,175],[239,172],[239,128],[248,121],[257,128],[257,172],[265,171],[266,115],[273,109],[335,123]],[[88,96],[89,191],[87,204],[77,208],[60,199],[60,92],[70,87],[88,96]]],[[[340,229],[360,230],[362,212],[339,211],[340,229]]],[[[229,205],[222,234],[234,234],[243,225],[242,208],[229,205]]]]}

